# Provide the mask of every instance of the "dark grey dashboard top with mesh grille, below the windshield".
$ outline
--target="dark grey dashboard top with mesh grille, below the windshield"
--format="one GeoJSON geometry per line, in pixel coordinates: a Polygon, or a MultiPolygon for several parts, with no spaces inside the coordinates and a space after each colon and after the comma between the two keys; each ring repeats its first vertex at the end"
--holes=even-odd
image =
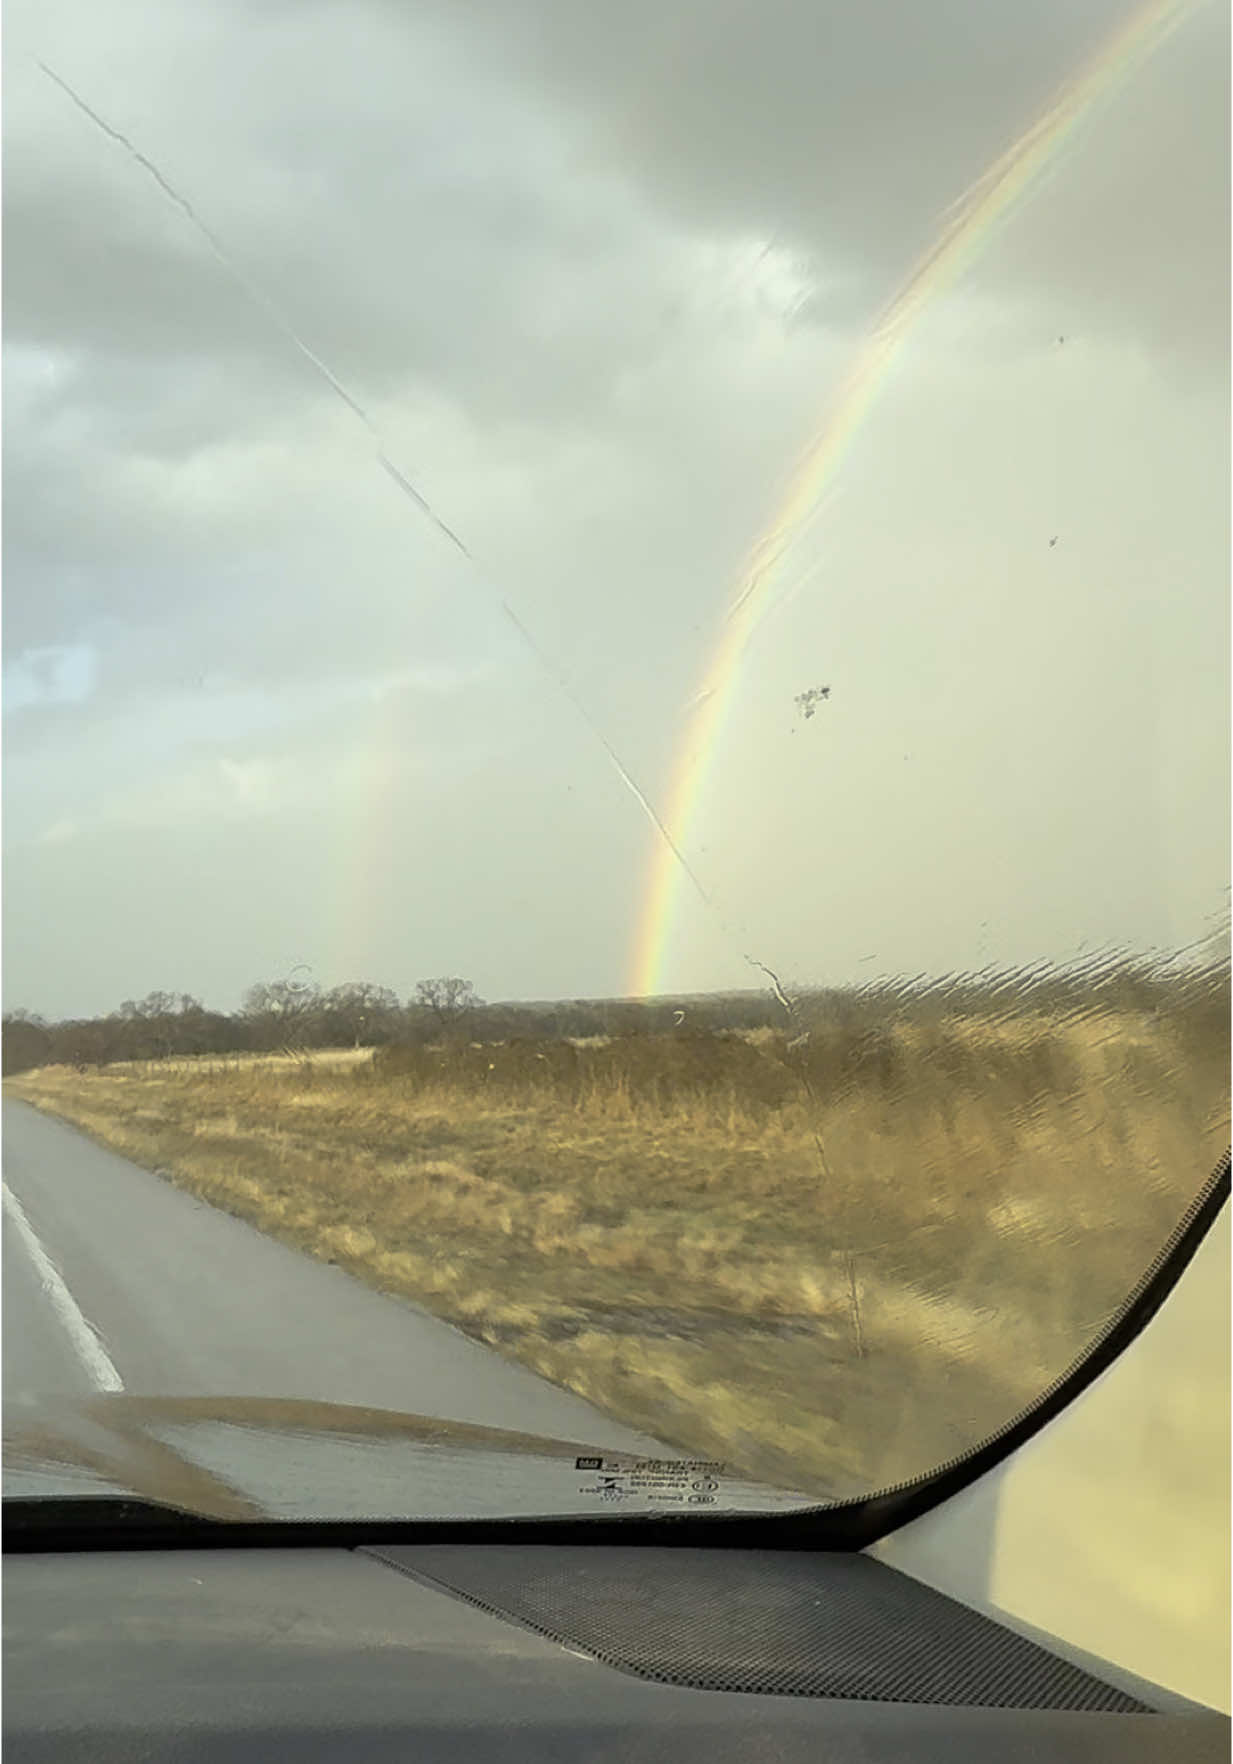
{"type": "Polygon", "coordinates": [[[411,1544],[5,1561],[5,1755],[1226,1759],[863,1552],[411,1544]]]}

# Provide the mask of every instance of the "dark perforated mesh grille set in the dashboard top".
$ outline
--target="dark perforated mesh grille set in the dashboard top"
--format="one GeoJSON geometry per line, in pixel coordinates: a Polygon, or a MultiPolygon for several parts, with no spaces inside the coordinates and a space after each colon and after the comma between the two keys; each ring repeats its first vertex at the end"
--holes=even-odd
{"type": "Polygon", "coordinates": [[[870,1556],[448,1544],[365,1554],[665,1685],[1150,1713],[1069,1660],[870,1556]]]}

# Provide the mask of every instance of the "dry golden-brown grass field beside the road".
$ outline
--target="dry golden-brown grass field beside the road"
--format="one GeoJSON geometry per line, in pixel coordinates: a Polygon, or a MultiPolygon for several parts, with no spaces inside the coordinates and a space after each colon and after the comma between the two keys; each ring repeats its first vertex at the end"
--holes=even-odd
{"type": "Polygon", "coordinates": [[[1007,1422],[1124,1300],[1228,1143],[1228,997],[5,1088],[663,1439],[848,1494],[1007,1422]]]}

